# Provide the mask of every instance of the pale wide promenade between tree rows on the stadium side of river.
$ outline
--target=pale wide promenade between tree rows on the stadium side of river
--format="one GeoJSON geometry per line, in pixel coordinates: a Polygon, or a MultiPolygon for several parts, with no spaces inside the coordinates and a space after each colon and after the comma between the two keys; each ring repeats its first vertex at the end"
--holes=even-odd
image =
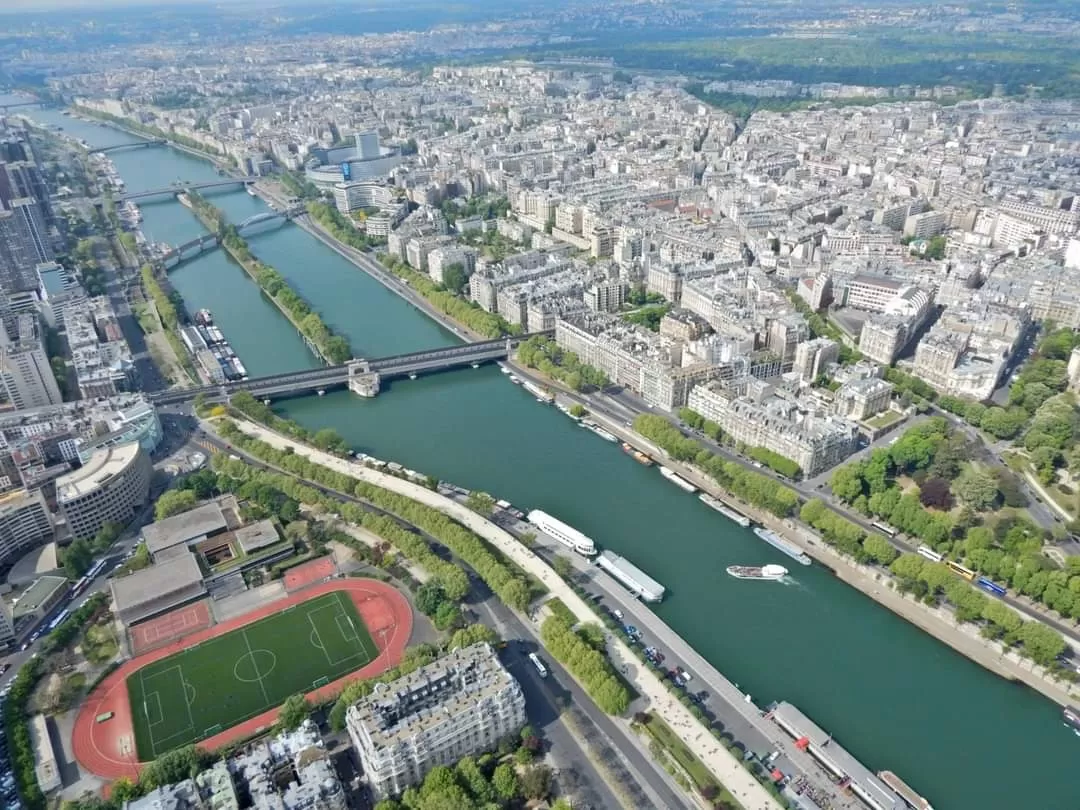
{"type": "MultiPolygon", "coordinates": [[[[336,472],[382,487],[438,510],[490,543],[524,571],[536,577],[552,596],[558,597],[573,612],[579,621],[594,623],[598,621],[593,609],[543,559],[518,542],[509,531],[463,504],[410,481],[308,447],[254,422],[238,421],[237,426],[244,433],[259,438],[276,449],[291,449],[293,453],[336,472]]],[[[610,637],[608,639],[608,650],[609,654],[618,660],[633,660],[635,663],[637,661],[630,648],[618,638],[610,637]]],[[[665,719],[678,727],[683,742],[739,800],[744,810],[780,810],[781,805],[727,748],[716,743],[708,730],[686,706],[671,697],[659,677],[644,667],[629,671],[627,675],[638,694],[651,705],[666,706],[669,701],[672,703],[670,710],[665,708],[665,719]]],[[[620,719],[619,723],[623,725],[626,733],[634,733],[629,727],[629,721],[620,719]]]]}

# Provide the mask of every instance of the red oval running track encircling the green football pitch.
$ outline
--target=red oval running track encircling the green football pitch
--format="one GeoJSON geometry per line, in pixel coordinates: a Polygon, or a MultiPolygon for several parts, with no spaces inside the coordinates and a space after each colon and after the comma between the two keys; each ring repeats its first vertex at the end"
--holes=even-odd
{"type": "MultiPolygon", "coordinates": [[[[132,726],[131,701],[127,697],[127,678],[133,673],[153,661],[172,656],[207,638],[228,633],[333,591],[343,591],[352,598],[361,619],[364,620],[375,640],[379,654],[362,669],[309,692],[309,696],[318,700],[327,700],[338,694],[350,680],[375,677],[401,663],[413,632],[413,609],[405,597],[378,580],[340,579],[324,582],[126,661],[98,684],[83,702],[71,734],[75,758],[84,770],[104,779],[112,780],[121,777],[138,779],[138,771],[144,762],[138,761],[138,754],[135,751],[135,731],[132,726]],[[112,712],[113,716],[104,723],[97,723],[96,718],[106,712],[112,712]]],[[[278,708],[271,708],[239,726],[202,740],[199,745],[208,751],[220,748],[269,727],[276,717],[278,708]]]]}

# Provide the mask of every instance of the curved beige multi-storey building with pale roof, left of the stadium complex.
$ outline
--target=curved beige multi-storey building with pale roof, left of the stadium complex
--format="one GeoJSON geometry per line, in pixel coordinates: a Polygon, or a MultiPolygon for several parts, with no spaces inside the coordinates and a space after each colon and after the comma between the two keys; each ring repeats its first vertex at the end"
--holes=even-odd
{"type": "Polygon", "coordinates": [[[153,470],[137,442],[102,447],[56,480],[56,503],[71,537],[93,537],[107,523],[126,523],[146,503],[153,470]]]}

